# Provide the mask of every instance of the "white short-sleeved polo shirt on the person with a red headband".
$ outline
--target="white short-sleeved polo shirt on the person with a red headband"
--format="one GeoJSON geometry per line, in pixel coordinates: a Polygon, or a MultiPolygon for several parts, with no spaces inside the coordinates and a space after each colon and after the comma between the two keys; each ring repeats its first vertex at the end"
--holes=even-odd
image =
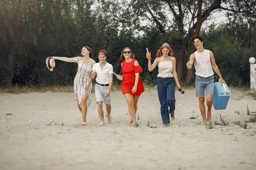
{"type": "Polygon", "coordinates": [[[97,73],[97,83],[109,84],[109,74],[113,74],[113,66],[106,61],[106,65],[101,68],[101,64],[97,62],[93,65],[92,71],[97,73]]]}

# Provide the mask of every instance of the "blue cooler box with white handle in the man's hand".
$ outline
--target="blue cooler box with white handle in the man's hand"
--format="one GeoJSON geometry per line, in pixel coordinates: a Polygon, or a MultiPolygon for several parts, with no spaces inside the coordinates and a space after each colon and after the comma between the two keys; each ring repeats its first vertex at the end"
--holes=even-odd
{"type": "Polygon", "coordinates": [[[214,83],[214,88],[213,88],[212,102],[215,110],[226,109],[227,102],[229,102],[229,97],[230,97],[230,91],[227,84],[222,84],[221,86],[220,79],[219,79],[219,82],[214,83]]]}

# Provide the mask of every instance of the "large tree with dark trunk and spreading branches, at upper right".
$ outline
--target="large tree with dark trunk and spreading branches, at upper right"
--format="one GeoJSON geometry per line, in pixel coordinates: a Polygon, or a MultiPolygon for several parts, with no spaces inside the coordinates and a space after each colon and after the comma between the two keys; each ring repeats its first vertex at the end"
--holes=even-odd
{"type": "MultiPolygon", "coordinates": [[[[141,24],[144,19],[148,27],[152,24],[158,27],[173,49],[179,79],[182,79],[184,62],[195,51],[191,37],[200,34],[202,24],[211,19],[213,13],[230,11],[255,16],[256,12],[254,0],[131,0],[122,3],[126,8],[123,10],[129,11],[131,23],[141,24]]],[[[186,82],[192,79],[193,69],[187,71],[186,82]]]]}

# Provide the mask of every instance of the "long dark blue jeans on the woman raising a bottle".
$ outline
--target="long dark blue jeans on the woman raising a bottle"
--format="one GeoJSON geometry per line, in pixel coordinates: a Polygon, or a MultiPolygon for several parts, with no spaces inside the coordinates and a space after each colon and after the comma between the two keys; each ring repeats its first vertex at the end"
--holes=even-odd
{"type": "Polygon", "coordinates": [[[163,124],[170,124],[170,116],[174,117],[175,110],[175,83],[173,77],[157,77],[157,92],[161,105],[163,124]],[[168,109],[168,107],[170,109],[168,109]]]}

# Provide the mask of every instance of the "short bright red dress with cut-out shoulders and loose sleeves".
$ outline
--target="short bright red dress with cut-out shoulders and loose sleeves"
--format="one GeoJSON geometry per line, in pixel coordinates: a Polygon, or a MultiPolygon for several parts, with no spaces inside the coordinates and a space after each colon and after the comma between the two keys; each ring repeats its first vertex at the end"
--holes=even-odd
{"type": "MultiPolygon", "coordinates": [[[[135,59],[132,59],[131,62],[126,62],[126,61],[122,62],[121,72],[124,74],[124,79],[122,82],[123,95],[126,93],[132,94],[132,88],[135,84],[135,73],[143,72],[141,66],[134,65],[135,61],[136,61],[135,59]]],[[[143,86],[141,77],[139,76],[137,91],[132,95],[139,96],[142,92],[144,92],[144,86],[143,86]]]]}

